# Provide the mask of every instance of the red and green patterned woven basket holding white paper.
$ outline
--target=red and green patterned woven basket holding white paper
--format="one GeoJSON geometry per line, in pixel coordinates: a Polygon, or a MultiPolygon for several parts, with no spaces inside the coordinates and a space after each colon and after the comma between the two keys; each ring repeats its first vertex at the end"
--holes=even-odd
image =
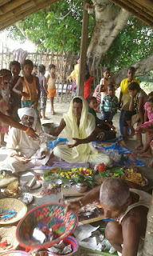
{"type": "Polygon", "coordinates": [[[18,223],[17,240],[24,248],[49,248],[72,234],[77,222],[77,214],[64,205],[37,206],[18,223]]]}

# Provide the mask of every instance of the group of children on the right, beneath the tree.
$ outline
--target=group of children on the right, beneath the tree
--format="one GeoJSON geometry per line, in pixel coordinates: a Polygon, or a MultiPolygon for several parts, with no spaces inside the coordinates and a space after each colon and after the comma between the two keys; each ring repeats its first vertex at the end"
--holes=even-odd
{"type": "MultiPolygon", "coordinates": [[[[120,84],[120,97],[116,97],[116,82],[110,74],[109,68],[104,68],[103,78],[100,85],[96,86],[93,96],[87,98],[88,111],[96,118],[96,126],[101,126],[100,121],[112,125],[112,118],[120,110],[120,134],[124,141],[137,135],[138,145],[135,150],[139,150],[137,155],[151,157],[153,151],[153,92],[146,94],[139,86],[139,80],[134,78],[135,68],[129,66],[127,70],[128,78],[120,84]],[[101,117],[98,120],[96,112],[100,108],[101,117]],[[137,124],[137,128],[134,125],[137,124]],[[146,134],[143,146],[142,133],[146,134]],[[142,149],[143,148],[143,149],[142,149]]],[[[107,130],[107,129],[104,129],[107,130]]],[[[111,130],[115,130],[112,126],[111,130]]],[[[109,136],[109,138],[111,138],[109,136]]],[[[153,161],[150,165],[153,167],[153,161]]]]}

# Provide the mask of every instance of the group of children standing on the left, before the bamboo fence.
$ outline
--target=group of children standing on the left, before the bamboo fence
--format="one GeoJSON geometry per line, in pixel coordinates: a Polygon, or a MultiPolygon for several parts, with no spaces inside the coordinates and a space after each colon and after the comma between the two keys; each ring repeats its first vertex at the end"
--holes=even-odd
{"type": "MultiPolygon", "coordinates": [[[[49,65],[49,74],[45,78],[45,66],[33,66],[33,62],[26,59],[21,65],[17,61],[10,62],[10,70],[0,70],[0,111],[10,115],[17,122],[18,109],[21,107],[33,107],[37,114],[37,126],[40,126],[40,118],[45,117],[46,99],[49,97],[51,103],[50,114],[54,114],[53,99],[56,96],[55,65],[49,65]],[[37,74],[38,70],[38,74],[37,74]],[[38,105],[39,111],[38,111],[38,105]]],[[[40,126],[41,130],[41,126],[40,126]]],[[[0,122],[1,145],[4,142],[4,134],[8,132],[8,126],[0,122]]]]}

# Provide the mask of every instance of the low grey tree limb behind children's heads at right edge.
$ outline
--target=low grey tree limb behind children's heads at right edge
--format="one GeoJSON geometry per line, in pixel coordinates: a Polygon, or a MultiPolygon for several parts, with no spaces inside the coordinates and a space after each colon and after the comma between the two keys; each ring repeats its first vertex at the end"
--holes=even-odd
{"type": "MultiPolygon", "coordinates": [[[[147,74],[147,72],[153,70],[153,54],[147,58],[143,58],[139,62],[135,62],[131,64],[131,66],[135,67],[135,76],[139,77],[144,74],[147,74]]],[[[124,68],[123,70],[120,70],[114,75],[114,78],[116,80],[116,84],[119,85],[120,82],[127,77],[127,69],[128,67],[124,68]]]]}

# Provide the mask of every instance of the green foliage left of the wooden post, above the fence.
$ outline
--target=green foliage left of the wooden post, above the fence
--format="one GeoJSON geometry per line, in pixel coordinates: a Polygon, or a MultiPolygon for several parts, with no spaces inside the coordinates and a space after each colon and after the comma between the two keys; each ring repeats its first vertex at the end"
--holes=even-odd
{"type": "MultiPolygon", "coordinates": [[[[10,26],[13,38],[28,38],[37,45],[38,50],[80,51],[81,23],[83,7],[80,0],[56,2],[45,10],[24,18],[19,26],[10,26]],[[22,33],[23,32],[23,33],[22,33]]],[[[89,18],[89,38],[94,18],[89,18]]],[[[90,39],[89,39],[90,40],[90,39]]],[[[88,40],[88,41],[89,41],[88,40]]]]}

